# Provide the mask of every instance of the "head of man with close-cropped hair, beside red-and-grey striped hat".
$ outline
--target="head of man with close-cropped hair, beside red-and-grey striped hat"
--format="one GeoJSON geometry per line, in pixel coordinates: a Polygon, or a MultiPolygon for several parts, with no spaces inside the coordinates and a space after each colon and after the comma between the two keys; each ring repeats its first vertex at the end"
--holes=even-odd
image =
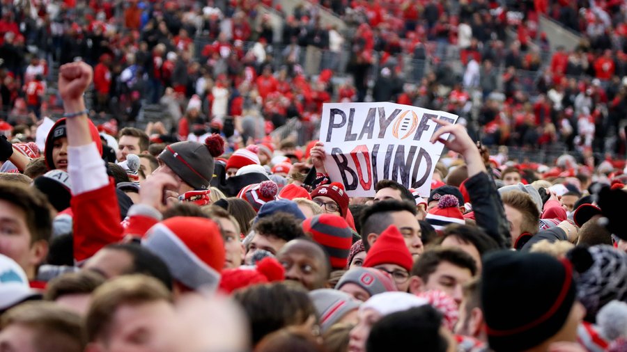
{"type": "Polygon", "coordinates": [[[300,282],[309,291],[325,287],[331,264],[318,243],[308,239],[294,239],[277,253],[285,268],[286,280],[300,282]]]}

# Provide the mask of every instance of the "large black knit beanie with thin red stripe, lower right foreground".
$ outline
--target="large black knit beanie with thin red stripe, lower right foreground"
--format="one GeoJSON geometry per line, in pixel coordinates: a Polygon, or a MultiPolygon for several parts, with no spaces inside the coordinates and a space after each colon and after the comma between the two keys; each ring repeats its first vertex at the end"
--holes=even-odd
{"type": "Polygon", "coordinates": [[[525,351],[545,342],[562,329],[574,302],[567,259],[506,250],[483,261],[481,303],[495,352],[525,351]]]}

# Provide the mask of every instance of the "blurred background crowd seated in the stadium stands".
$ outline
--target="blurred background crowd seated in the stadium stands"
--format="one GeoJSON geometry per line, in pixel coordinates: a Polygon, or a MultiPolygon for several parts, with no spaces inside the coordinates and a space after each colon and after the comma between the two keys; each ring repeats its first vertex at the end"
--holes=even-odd
{"type": "MultiPolygon", "coordinates": [[[[80,58],[95,68],[93,113],[124,127],[158,103],[167,133],[180,140],[240,118],[251,122],[247,135],[263,136],[294,117],[315,128],[325,102],[372,100],[458,113],[486,145],[564,147],[597,159],[626,154],[621,1],[319,5],[348,30],[323,26],[323,10],[308,2],[291,15],[272,1],[6,3],[5,120],[31,125],[42,110],[58,110],[59,95],[47,93],[51,65],[80,58]],[[265,11],[280,23],[258,6],[272,8],[265,11]],[[549,43],[539,31],[543,15],[577,31],[578,47],[549,43]],[[313,75],[305,65],[320,56],[310,48],[322,50],[313,75]]],[[[238,138],[229,128],[224,134],[229,143],[238,138]]]]}

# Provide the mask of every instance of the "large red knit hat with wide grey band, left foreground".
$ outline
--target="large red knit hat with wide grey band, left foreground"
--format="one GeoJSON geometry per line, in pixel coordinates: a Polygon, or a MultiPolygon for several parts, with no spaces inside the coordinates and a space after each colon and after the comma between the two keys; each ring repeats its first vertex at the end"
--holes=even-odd
{"type": "Polygon", "coordinates": [[[185,287],[217,289],[224,267],[224,242],[215,222],[191,216],[169,218],[150,227],[142,244],[185,287]]]}

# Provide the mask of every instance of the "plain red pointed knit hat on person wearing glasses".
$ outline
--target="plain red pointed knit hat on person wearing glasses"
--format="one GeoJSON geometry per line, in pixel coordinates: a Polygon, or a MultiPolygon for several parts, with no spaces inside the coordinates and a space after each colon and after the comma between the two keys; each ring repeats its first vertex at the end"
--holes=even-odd
{"type": "Polygon", "coordinates": [[[405,245],[403,235],[394,225],[389,225],[385,231],[381,232],[364,261],[366,268],[380,264],[396,264],[407,269],[407,271],[412,270],[414,264],[412,254],[405,245]]]}

